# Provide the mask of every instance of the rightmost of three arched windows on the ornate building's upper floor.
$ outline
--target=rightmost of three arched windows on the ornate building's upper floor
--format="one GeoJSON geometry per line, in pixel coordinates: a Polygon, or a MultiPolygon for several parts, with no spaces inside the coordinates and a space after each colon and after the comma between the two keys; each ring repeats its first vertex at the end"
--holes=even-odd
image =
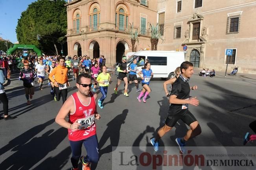
{"type": "Polygon", "coordinates": [[[128,28],[128,15],[123,8],[120,8],[116,12],[116,27],[118,27],[119,30],[128,28]]]}

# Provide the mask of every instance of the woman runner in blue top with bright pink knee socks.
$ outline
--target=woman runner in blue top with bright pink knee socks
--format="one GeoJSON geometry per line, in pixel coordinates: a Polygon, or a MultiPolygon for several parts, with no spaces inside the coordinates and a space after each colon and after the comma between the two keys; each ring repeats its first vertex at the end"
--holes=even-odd
{"type": "MultiPolygon", "coordinates": [[[[136,59],[135,59],[136,60],[136,59]]],[[[146,103],[147,95],[151,92],[151,89],[149,88],[149,82],[150,79],[153,77],[153,72],[152,69],[150,69],[150,63],[147,62],[144,67],[142,68],[142,71],[138,73],[140,78],[142,79],[141,86],[143,87],[142,92],[140,92],[140,95],[137,97],[138,101],[141,102],[141,97],[144,95],[142,98],[143,102],[146,103]],[[141,76],[141,73],[143,73],[143,77],[141,76]]]]}

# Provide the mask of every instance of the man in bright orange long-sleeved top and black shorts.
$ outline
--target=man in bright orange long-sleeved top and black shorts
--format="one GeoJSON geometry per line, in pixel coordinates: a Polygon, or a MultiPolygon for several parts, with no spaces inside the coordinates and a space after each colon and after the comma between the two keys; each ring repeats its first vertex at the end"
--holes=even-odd
{"type": "Polygon", "coordinates": [[[59,65],[55,67],[49,75],[49,79],[54,84],[54,100],[59,101],[62,96],[63,104],[67,99],[68,96],[68,69],[64,66],[65,58],[59,57],[59,65]]]}

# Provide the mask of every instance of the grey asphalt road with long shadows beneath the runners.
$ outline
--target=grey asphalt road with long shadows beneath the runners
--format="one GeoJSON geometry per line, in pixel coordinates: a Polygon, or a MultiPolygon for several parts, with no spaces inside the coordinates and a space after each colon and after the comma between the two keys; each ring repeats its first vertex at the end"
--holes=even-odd
{"type": "MultiPolygon", "coordinates": [[[[70,170],[67,130],[54,121],[62,101],[52,99],[46,82],[42,91],[36,84],[35,95],[28,106],[22,82],[15,75],[12,80],[6,93],[9,115],[17,118],[0,120],[0,170],[70,170]]],[[[196,96],[200,104],[189,108],[199,121],[202,133],[188,141],[187,146],[242,146],[245,133],[251,132],[249,123],[256,119],[256,80],[203,78],[195,74],[189,83],[198,86],[190,95],[196,96]]],[[[77,91],[75,82],[70,84],[68,96],[77,91]]],[[[101,147],[99,170],[112,169],[111,146],[150,146],[149,139],[163,125],[169,107],[162,80],[151,81],[152,92],[147,103],[137,101],[139,93],[134,84],[129,85],[129,97],[123,95],[123,82],[115,95],[115,84],[113,76],[104,108],[98,108],[101,114],[101,119],[96,121],[101,147]]],[[[97,93],[101,97],[98,89],[97,93]]],[[[179,121],[162,138],[160,146],[177,146],[175,138],[182,137],[187,130],[188,126],[179,121]]],[[[86,155],[84,148],[83,155],[86,155]]]]}

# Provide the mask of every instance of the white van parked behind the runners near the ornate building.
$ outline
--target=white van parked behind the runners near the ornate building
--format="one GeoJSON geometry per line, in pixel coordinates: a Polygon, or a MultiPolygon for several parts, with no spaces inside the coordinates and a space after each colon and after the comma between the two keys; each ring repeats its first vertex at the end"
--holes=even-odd
{"type": "MultiPolygon", "coordinates": [[[[183,51],[137,51],[127,59],[127,70],[133,63],[133,59],[137,59],[138,72],[142,70],[145,60],[148,59],[151,64],[151,69],[154,73],[154,78],[170,79],[175,76],[174,70],[184,62],[183,51]],[[144,63],[139,64],[141,58],[144,63]]],[[[139,77],[137,72],[137,77],[139,77]]]]}

